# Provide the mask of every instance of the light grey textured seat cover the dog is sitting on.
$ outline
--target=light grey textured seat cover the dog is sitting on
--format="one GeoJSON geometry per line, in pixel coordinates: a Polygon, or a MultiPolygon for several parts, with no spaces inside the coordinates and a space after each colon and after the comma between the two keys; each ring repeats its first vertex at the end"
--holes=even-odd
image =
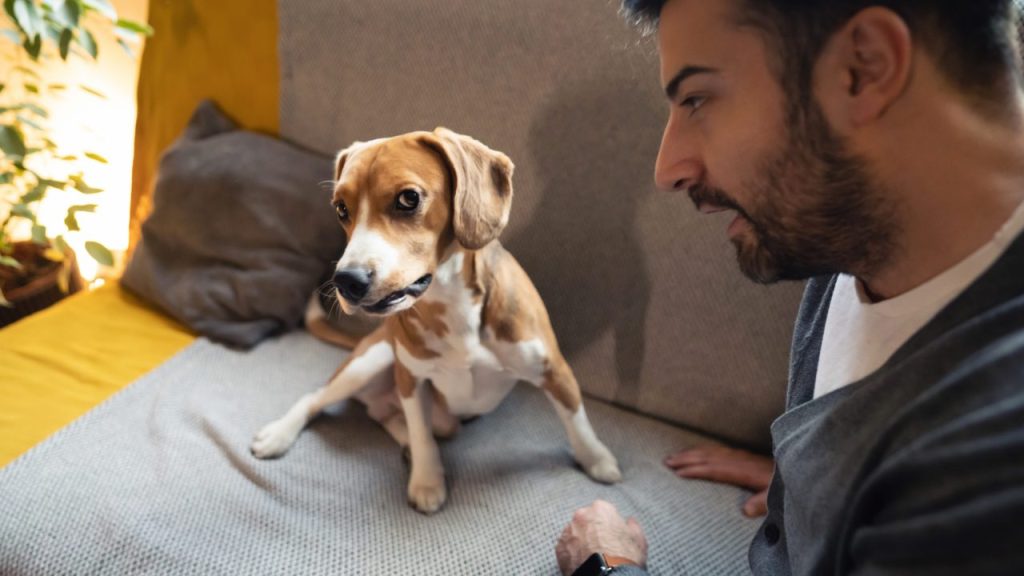
{"type": "Polygon", "coordinates": [[[433,517],[409,507],[399,451],[357,404],[253,458],[252,434],[343,355],[305,332],[249,353],[198,340],[0,469],[0,574],[555,574],[559,532],[597,497],[639,517],[654,574],[746,571],[746,494],[662,464],[701,439],[597,401],[614,487],[572,466],[529,387],[441,445],[450,499],[433,517]]]}

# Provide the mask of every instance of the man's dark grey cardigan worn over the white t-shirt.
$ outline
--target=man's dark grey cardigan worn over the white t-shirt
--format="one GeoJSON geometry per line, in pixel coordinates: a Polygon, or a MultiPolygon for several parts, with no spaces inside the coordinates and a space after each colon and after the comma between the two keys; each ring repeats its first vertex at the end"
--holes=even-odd
{"type": "Polygon", "coordinates": [[[757,574],[1024,574],[1024,236],[866,378],[814,399],[808,284],[757,574]]]}

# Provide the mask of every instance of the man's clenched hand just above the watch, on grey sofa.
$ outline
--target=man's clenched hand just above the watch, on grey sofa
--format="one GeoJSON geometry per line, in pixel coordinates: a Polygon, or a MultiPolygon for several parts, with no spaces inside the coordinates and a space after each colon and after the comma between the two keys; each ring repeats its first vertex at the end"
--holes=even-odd
{"type": "Polygon", "coordinates": [[[555,557],[562,574],[568,575],[594,552],[646,566],[647,538],[635,518],[624,520],[614,505],[595,500],[572,515],[555,545],[555,557]]]}

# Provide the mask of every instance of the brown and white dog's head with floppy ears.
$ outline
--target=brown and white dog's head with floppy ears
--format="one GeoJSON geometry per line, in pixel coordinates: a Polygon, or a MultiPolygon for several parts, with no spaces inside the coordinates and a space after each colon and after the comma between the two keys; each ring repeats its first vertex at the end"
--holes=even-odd
{"type": "Polygon", "coordinates": [[[454,249],[498,238],[512,205],[512,169],[504,154],[445,128],[338,154],[332,204],[348,236],[334,275],[342,308],[406,310],[454,249]]]}

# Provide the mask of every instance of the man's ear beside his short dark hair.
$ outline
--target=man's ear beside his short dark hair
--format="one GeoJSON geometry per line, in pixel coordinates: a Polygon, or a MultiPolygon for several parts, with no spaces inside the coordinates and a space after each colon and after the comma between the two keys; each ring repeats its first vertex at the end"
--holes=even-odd
{"type": "Polygon", "coordinates": [[[881,6],[864,8],[833,35],[815,72],[825,108],[853,126],[883,115],[906,90],[913,38],[902,16],[881,6]]]}

